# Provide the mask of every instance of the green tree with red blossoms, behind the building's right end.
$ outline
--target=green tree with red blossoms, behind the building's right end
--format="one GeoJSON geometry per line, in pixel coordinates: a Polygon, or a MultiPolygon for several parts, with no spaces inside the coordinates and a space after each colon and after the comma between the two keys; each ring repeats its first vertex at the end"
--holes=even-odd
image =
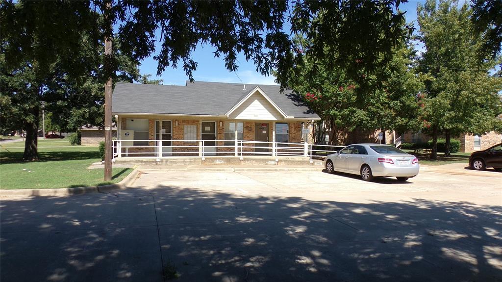
{"type": "MultiPolygon", "coordinates": [[[[308,48],[306,40],[297,38],[297,45],[308,48]]],[[[345,135],[355,128],[375,130],[417,129],[417,94],[421,80],[413,64],[415,51],[402,43],[394,49],[393,59],[374,74],[351,79],[340,68],[331,68],[325,61],[303,57],[299,76],[291,76],[290,85],[320,117],[321,133],[329,132],[329,144],[344,144],[345,135]],[[307,73],[317,68],[315,78],[307,73]],[[363,85],[358,83],[364,79],[363,85]]]]}

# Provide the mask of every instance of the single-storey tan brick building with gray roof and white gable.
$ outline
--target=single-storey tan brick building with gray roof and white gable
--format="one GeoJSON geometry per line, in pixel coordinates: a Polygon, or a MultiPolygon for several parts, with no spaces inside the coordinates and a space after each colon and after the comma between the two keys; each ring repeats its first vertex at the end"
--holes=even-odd
{"type": "MultiPolygon", "coordinates": [[[[163,156],[196,156],[199,140],[204,146],[228,146],[204,149],[215,155],[234,152],[235,139],[254,141],[243,143],[243,151],[265,153],[270,149],[256,142],[269,142],[263,147],[270,142],[304,142],[302,128],[320,119],[297,94],[281,93],[277,85],[117,83],[112,97],[118,140],[133,146],[128,154],[135,156],[155,156],[157,148],[142,146],[156,146],[157,140],[176,146],[163,148],[163,156]]],[[[291,145],[278,144],[277,150],[287,146],[291,145]]]]}

